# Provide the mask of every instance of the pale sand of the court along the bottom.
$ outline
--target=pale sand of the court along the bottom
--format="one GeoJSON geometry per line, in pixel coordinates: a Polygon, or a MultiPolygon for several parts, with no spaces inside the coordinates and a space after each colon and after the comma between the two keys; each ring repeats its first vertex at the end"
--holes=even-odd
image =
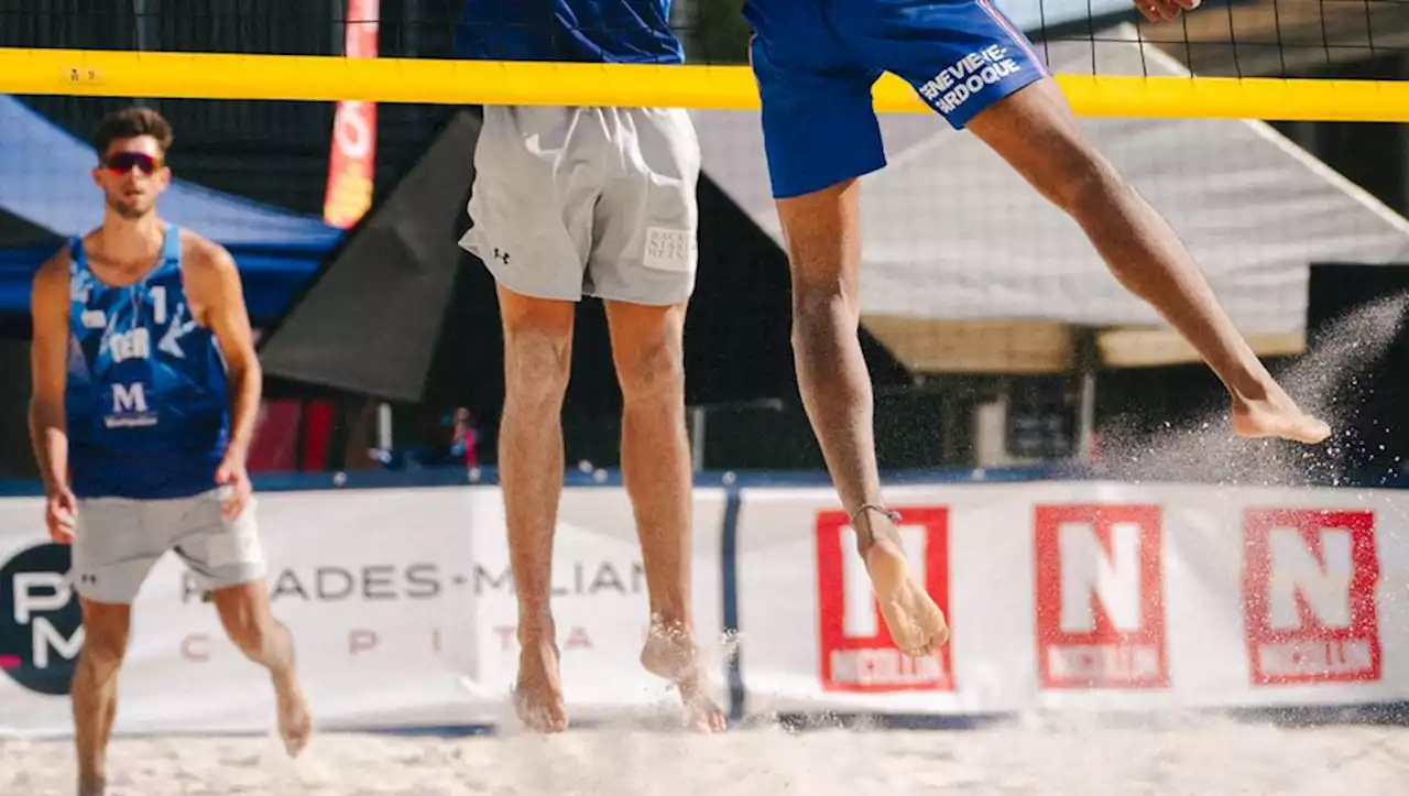
{"type": "MultiPolygon", "coordinates": [[[[117,740],[111,796],[896,793],[1403,795],[1409,728],[1029,724],[719,737],[633,730],[409,738],[324,734],[297,764],[271,738],[117,740]]],[[[0,793],[70,796],[68,742],[0,741],[0,793]]]]}

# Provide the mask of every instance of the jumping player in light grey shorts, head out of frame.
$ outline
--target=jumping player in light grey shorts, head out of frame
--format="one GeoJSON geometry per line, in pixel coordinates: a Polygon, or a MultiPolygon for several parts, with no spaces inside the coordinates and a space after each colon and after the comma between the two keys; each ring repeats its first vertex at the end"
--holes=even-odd
{"type": "MultiPolygon", "coordinates": [[[[468,0],[462,58],[679,63],[669,0],[468,0]]],[[[533,730],[568,726],[550,607],[564,479],[573,313],[606,306],[621,387],[621,472],[641,541],[651,631],[641,662],[674,682],[686,723],[723,730],[690,611],[690,461],[683,325],[695,289],[699,142],[683,110],[485,108],[471,230],[504,332],[499,473],[519,597],[514,702],[533,730]]]]}

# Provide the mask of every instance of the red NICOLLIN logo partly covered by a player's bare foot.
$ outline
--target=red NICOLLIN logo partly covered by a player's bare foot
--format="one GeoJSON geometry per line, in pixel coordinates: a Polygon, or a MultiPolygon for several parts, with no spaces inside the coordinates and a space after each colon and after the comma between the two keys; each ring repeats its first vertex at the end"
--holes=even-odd
{"type": "MultiPolygon", "coordinates": [[[[948,614],[948,510],[899,511],[898,530],[910,568],[948,614]]],[[[817,589],[824,690],[954,690],[952,642],[924,658],[910,658],[895,647],[844,511],[817,514],[817,589]]]]}

